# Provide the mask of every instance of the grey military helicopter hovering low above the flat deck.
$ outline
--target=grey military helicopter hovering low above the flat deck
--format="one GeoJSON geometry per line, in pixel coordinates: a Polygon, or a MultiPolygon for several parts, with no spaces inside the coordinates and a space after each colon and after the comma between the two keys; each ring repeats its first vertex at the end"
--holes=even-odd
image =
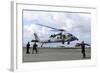
{"type": "Polygon", "coordinates": [[[74,36],[71,33],[66,33],[66,30],[64,30],[64,29],[58,29],[58,28],[46,26],[46,25],[43,25],[43,24],[37,24],[37,25],[42,26],[42,27],[46,27],[46,28],[50,28],[50,29],[53,29],[54,31],[59,32],[59,33],[50,35],[49,39],[44,40],[44,41],[40,40],[37,33],[34,33],[35,39],[31,40],[31,42],[42,43],[41,47],[43,47],[43,44],[46,44],[46,43],[62,43],[62,44],[65,44],[65,42],[67,42],[67,44],[69,45],[70,42],[72,42],[72,41],[76,41],[76,40],[78,41],[78,38],[76,36],[74,36]],[[54,38],[54,40],[52,40],[53,38],[54,38]]]}

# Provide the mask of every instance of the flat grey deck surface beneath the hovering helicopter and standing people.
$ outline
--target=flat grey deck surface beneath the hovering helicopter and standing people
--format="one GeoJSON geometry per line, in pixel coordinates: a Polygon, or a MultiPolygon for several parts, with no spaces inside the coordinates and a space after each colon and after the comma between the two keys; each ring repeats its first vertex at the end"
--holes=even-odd
{"type": "MultiPolygon", "coordinates": [[[[26,49],[23,48],[23,62],[46,62],[46,61],[67,61],[67,60],[84,60],[82,58],[81,49],[68,48],[40,48],[38,54],[26,54],[26,49]]],[[[90,49],[86,49],[86,58],[91,58],[90,49]]]]}

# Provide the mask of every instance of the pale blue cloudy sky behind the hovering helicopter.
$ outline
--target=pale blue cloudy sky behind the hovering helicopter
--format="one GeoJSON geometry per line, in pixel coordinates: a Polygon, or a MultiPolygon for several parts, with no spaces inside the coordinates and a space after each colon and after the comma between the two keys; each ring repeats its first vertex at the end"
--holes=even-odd
{"type": "Polygon", "coordinates": [[[81,41],[91,43],[91,14],[89,13],[23,11],[23,46],[28,41],[35,39],[33,33],[37,33],[39,39],[43,41],[48,40],[51,34],[58,33],[38,24],[64,29],[66,33],[71,33],[79,39],[79,41],[71,42],[70,45],[67,43],[64,45],[62,43],[49,43],[44,46],[74,46],[75,43],[81,41]]]}

